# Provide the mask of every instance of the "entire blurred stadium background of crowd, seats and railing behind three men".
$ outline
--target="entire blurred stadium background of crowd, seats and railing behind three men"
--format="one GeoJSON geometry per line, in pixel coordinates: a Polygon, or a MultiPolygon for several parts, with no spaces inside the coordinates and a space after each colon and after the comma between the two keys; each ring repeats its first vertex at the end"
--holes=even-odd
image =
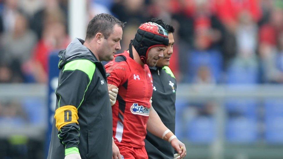
{"type": "Polygon", "coordinates": [[[283,0],[84,0],[77,12],[70,1],[0,0],[1,159],[46,158],[58,50],[102,12],[127,22],[119,53],[151,17],[174,26],[186,158],[283,158],[283,0]]]}

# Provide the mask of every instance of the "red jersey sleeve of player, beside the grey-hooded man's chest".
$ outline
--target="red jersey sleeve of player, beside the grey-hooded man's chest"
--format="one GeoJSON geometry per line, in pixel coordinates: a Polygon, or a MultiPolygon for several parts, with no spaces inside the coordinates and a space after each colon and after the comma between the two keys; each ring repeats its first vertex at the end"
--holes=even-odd
{"type": "Polygon", "coordinates": [[[109,85],[113,84],[117,87],[124,84],[128,77],[129,66],[127,62],[111,61],[105,66],[106,72],[110,74],[107,77],[109,85]]]}

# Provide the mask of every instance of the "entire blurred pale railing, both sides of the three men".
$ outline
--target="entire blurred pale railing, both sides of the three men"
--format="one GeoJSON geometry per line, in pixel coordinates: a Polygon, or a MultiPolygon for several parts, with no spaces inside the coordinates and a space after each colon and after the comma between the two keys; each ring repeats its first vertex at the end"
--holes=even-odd
{"type": "MultiPolygon", "coordinates": [[[[48,87],[42,84],[0,84],[0,104],[6,101],[21,101],[29,97],[44,101],[46,112],[48,111],[48,87]]],[[[216,140],[212,144],[192,144],[187,141],[188,158],[280,158],[283,156],[282,145],[268,145],[259,141],[256,144],[239,145],[229,144],[225,140],[226,112],[223,102],[228,98],[255,98],[263,100],[269,97],[283,99],[283,85],[217,85],[196,86],[190,84],[178,84],[177,100],[205,101],[213,99],[216,102],[214,117],[217,123],[216,140]]],[[[176,106],[178,109],[178,106],[176,106]]],[[[39,125],[26,124],[14,126],[11,124],[0,125],[0,137],[10,135],[26,135],[31,138],[44,139],[47,129],[46,122],[39,125]]]]}

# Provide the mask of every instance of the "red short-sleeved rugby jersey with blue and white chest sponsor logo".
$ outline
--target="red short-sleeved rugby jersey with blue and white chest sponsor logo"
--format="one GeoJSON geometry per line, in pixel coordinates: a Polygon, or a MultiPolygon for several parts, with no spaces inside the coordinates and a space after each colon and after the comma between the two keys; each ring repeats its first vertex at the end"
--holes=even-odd
{"type": "Polygon", "coordinates": [[[143,147],[153,91],[149,68],[138,64],[127,51],[115,55],[105,68],[110,73],[108,85],[119,88],[112,106],[114,141],[118,147],[143,147]]]}

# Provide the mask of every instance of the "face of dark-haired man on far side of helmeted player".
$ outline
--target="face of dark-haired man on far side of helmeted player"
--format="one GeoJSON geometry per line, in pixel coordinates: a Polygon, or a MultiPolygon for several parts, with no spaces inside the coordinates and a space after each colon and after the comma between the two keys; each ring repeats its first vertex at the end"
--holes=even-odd
{"type": "Polygon", "coordinates": [[[172,56],[173,53],[173,45],[174,45],[174,38],[173,38],[173,33],[169,33],[168,34],[168,38],[169,38],[169,44],[166,47],[166,49],[163,51],[163,58],[160,58],[157,63],[156,66],[157,67],[164,67],[164,66],[169,66],[169,62],[170,62],[170,57],[172,56]]]}

